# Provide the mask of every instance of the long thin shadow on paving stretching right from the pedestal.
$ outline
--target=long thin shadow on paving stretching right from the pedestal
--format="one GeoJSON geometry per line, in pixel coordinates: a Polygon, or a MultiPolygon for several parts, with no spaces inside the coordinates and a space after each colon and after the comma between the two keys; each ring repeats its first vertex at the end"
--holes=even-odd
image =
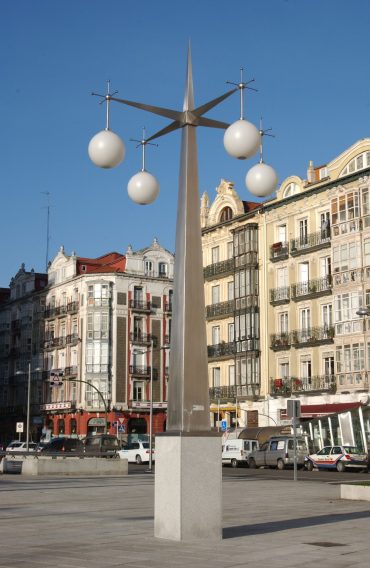
{"type": "Polygon", "coordinates": [[[300,519],[284,519],[270,523],[260,523],[257,525],[239,525],[236,527],[226,527],[223,529],[223,538],[237,538],[239,536],[251,536],[256,534],[266,534],[271,532],[284,531],[287,529],[299,529],[316,525],[326,525],[329,523],[340,523],[354,519],[368,519],[370,511],[358,511],[354,513],[338,513],[335,515],[321,515],[317,517],[304,517],[300,519]]]}

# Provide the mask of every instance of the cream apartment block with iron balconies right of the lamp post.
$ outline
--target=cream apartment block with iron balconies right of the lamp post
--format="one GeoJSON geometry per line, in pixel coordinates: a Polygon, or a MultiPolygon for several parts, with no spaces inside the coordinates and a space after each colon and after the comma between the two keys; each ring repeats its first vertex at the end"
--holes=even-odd
{"type": "Polygon", "coordinates": [[[209,383],[217,418],[232,424],[238,408],[239,424],[282,423],[291,396],[300,398],[305,417],[367,402],[369,173],[370,139],[364,139],[325,165],[310,162],[307,179],[288,177],[274,199],[249,204],[248,211],[232,184],[225,192],[222,182],[211,205],[203,196],[209,383]],[[225,207],[228,213],[222,216],[225,207]],[[248,231],[242,237],[243,254],[249,255],[242,261],[248,266],[245,275],[238,258],[241,230],[248,231]],[[219,260],[212,252],[217,243],[219,260]],[[210,279],[226,259],[228,273],[210,279]],[[219,296],[213,286],[219,286],[219,296]],[[241,291],[247,293],[242,312],[241,291]],[[225,301],[227,318],[217,319],[217,304],[225,301]],[[225,345],[228,353],[221,354],[225,345]],[[245,360],[245,376],[233,376],[238,358],[245,360]],[[258,385],[253,392],[252,384],[258,385]]]}

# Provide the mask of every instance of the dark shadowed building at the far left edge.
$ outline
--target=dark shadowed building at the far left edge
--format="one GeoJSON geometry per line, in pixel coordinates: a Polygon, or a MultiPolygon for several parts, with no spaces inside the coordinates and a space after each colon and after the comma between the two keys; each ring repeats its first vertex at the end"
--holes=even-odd
{"type": "Polygon", "coordinates": [[[43,419],[43,306],[47,275],[22,264],[9,288],[0,292],[0,440],[18,437],[16,424],[26,431],[30,382],[30,433],[39,438],[43,419]]]}

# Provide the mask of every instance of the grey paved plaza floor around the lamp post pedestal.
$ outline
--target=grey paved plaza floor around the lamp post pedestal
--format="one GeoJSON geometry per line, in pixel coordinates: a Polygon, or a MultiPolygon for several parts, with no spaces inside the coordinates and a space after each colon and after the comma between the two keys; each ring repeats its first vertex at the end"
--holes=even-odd
{"type": "MultiPolygon", "coordinates": [[[[211,498],[211,496],[210,496],[211,498]]],[[[223,481],[223,540],[153,536],[154,477],[0,476],[1,568],[365,566],[370,503],[317,481],[223,481]]]]}

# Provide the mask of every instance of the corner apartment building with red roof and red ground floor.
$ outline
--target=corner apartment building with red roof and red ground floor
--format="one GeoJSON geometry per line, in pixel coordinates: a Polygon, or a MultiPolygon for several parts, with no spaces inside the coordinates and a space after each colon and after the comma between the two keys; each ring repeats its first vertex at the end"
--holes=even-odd
{"type": "Polygon", "coordinates": [[[47,435],[153,431],[166,423],[173,255],[156,239],[97,259],[50,265],[45,304],[47,435]]]}

